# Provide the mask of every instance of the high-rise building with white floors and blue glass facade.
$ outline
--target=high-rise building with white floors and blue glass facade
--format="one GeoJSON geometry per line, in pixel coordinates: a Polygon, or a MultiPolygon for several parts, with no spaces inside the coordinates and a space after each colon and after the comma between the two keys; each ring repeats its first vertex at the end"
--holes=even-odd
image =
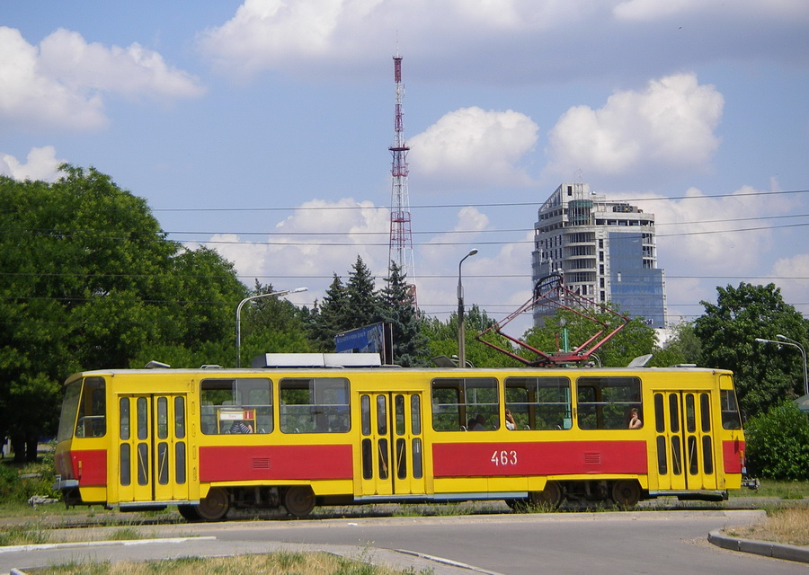
{"type": "MultiPolygon", "coordinates": [[[[643,317],[653,328],[665,327],[665,280],[657,268],[653,214],[596,195],[588,184],[563,183],[539,208],[531,260],[535,286],[559,274],[573,293],[611,302],[619,313],[643,317]]],[[[536,307],[534,323],[541,325],[555,311],[536,307]]]]}

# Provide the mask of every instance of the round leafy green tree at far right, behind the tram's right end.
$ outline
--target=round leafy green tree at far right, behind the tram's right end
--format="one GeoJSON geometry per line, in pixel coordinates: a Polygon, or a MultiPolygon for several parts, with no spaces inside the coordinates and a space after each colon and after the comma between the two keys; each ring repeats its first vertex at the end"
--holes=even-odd
{"type": "Polygon", "coordinates": [[[806,341],[807,324],[795,307],[784,302],[774,284],[717,288],[716,305],[705,301],[705,314],[694,323],[702,342],[699,363],[732,369],[742,409],[764,413],[788,397],[801,394],[803,363],[795,349],[778,349],[756,338],[776,340],[786,334],[806,341]]]}

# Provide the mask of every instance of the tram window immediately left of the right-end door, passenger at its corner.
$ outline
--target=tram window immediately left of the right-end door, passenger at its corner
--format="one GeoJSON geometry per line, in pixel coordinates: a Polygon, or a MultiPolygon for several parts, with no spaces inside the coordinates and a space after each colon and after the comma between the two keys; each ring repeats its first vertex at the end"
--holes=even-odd
{"type": "Polygon", "coordinates": [[[638,377],[579,377],[576,420],[581,429],[628,429],[631,409],[643,420],[638,377]]]}

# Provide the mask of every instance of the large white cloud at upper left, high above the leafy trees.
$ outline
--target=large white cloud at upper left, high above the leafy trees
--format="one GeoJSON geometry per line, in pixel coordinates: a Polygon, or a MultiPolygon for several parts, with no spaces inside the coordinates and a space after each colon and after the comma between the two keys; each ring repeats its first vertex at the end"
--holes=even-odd
{"type": "Polygon", "coordinates": [[[36,47],[20,31],[0,27],[0,84],[0,119],[24,128],[102,128],[103,97],[111,93],[153,99],[203,93],[196,78],[138,43],[106,48],[61,29],[36,47]]]}

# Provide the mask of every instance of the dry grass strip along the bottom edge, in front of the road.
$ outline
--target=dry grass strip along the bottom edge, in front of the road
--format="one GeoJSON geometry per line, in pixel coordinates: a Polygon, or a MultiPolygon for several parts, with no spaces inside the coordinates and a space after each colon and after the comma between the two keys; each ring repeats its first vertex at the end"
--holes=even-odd
{"type": "Polygon", "coordinates": [[[67,562],[29,570],[37,575],[429,575],[432,570],[395,570],[359,559],[346,559],[330,553],[277,552],[237,557],[182,557],[156,562],[67,562]]]}

